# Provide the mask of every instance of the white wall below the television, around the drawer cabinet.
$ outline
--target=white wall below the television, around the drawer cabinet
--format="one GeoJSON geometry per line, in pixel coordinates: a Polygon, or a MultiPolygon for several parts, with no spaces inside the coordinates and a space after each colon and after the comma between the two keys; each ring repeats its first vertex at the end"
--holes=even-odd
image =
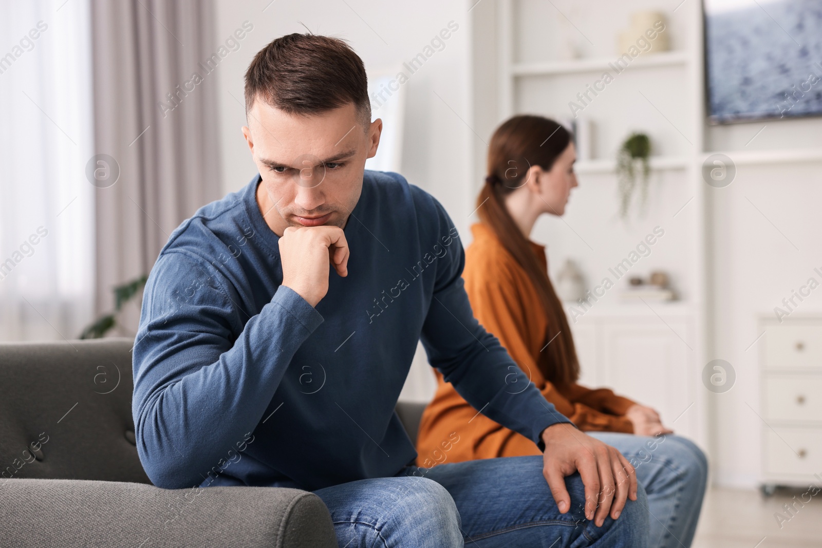
{"type": "MultiPolygon", "coordinates": [[[[756,150],[820,149],[822,118],[708,127],[706,137],[706,146],[729,151],[732,160],[756,150]]],[[[760,412],[758,367],[764,337],[754,343],[761,333],[756,320],[760,315],[775,318],[774,307],[782,306],[783,298],[791,297],[792,290],[822,266],[820,167],[818,161],[737,163],[737,177],[729,187],[708,189],[706,252],[713,293],[709,348],[714,358],[729,361],[737,372],[733,389],[712,394],[718,483],[753,486],[760,475],[763,423],[751,408],[760,412]]],[[[822,315],[822,292],[811,292],[791,317],[799,315],[822,315]]]]}

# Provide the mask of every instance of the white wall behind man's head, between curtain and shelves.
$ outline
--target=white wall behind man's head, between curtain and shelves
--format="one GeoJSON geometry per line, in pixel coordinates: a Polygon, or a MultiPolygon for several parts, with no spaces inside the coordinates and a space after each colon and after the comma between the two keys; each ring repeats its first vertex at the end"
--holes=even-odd
{"type": "MultiPolygon", "coordinates": [[[[450,21],[459,25],[445,40],[445,48],[435,51],[402,86],[406,115],[399,173],[440,200],[459,233],[470,237],[468,215],[474,209],[475,185],[471,182],[469,149],[477,137],[463,122],[470,120],[471,109],[468,2],[215,0],[215,4],[218,21],[215,44],[223,43],[243,21],[254,25],[242,39],[241,48],[229,53],[218,68],[225,192],[238,190],[256,174],[240,131],[246,123],[243,76],[256,52],[272,39],[306,32],[307,27],[315,34],[348,40],[363,58],[367,71],[393,73],[403,62],[422,53],[450,21]]],[[[393,99],[395,96],[389,100],[393,99]]],[[[434,386],[424,352],[418,352],[401,398],[427,401],[434,386]]]]}

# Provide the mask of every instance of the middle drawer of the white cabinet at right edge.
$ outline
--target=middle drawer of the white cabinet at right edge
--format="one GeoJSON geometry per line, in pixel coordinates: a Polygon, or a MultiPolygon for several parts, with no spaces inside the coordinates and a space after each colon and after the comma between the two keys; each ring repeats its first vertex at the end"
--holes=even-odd
{"type": "Polygon", "coordinates": [[[822,421],[822,375],[763,378],[769,421],[822,421]]]}

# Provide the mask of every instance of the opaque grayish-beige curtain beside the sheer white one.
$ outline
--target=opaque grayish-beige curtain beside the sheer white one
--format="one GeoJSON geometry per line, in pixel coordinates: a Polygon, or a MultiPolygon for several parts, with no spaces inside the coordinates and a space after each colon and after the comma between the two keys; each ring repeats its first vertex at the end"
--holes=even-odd
{"type": "MultiPolygon", "coordinates": [[[[95,310],[148,274],[182,220],[219,199],[214,7],[196,0],[91,0],[95,310]],[[192,77],[194,73],[199,78],[192,77]],[[119,175],[117,177],[117,171],[119,175]],[[117,177],[116,182],[114,181],[117,177]]],[[[136,298],[119,334],[133,335],[136,298]]]]}

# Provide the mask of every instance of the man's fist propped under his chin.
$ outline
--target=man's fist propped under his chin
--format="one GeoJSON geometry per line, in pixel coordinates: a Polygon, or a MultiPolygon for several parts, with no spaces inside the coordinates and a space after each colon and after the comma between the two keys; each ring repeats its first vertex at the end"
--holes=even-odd
{"type": "Polygon", "coordinates": [[[328,292],[331,265],[340,276],[349,274],[349,243],[339,227],[288,227],[279,238],[279,260],[283,285],[316,306],[328,292]]]}

